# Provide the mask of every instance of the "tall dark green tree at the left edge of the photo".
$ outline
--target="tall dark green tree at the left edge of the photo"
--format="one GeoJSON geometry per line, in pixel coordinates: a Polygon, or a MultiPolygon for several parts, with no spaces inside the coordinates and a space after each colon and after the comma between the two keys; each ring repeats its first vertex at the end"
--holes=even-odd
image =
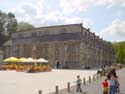
{"type": "Polygon", "coordinates": [[[11,33],[17,31],[17,20],[12,13],[0,11],[0,46],[11,37],[11,33]]]}

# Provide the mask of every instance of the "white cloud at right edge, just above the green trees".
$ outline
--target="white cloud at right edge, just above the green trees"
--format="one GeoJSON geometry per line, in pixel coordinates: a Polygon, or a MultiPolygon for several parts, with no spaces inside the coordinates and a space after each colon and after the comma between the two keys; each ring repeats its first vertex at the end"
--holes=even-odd
{"type": "Polygon", "coordinates": [[[119,19],[114,20],[110,26],[103,29],[99,35],[106,40],[125,41],[125,21],[119,19]]]}

